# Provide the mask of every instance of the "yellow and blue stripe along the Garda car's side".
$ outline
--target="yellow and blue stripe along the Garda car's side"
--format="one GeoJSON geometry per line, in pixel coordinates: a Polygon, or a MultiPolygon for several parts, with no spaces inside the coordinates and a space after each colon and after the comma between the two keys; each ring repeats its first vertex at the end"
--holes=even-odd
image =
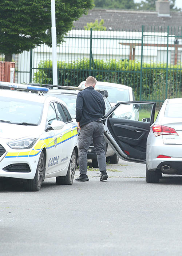
{"type": "Polygon", "coordinates": [[[33,150],[31,151],[23,151],[23,152],[8,152],[5,158],[16,158],[16,157],[35,157],[36,155],[40,154],[41,149],[45,147],[46,149],[50,149],[52,147],[58,146],[61,143],[66,142],[67,140],[70,140],[76,136],[78,136],[77,132],[77,126],[75,125],[74,130],[66,129],[65,131],[58,133],[56,135],[46,137],[43,139],[40,139],[33,150]],[[63,135],[60,137],[60,134],[63,135]],[[56,139],[56,144],[55,144],[56,139]]]}

